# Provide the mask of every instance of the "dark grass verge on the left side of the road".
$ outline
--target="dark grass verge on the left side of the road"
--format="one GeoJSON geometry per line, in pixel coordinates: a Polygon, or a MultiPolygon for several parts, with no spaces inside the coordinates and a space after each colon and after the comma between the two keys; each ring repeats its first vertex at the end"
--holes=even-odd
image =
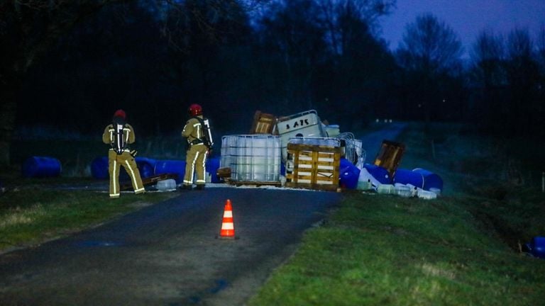
{"type": "MultiPolygon", "coordinates": [[[[54,181],[48,180],[48,185],[54,181]]],[[[0,196],[0,251],[67,236],[171,196],[170,193],[123,193],[118,199],[110,199],[107,191],[57,190],[35,183],[20,185],[0,196]]]]}

